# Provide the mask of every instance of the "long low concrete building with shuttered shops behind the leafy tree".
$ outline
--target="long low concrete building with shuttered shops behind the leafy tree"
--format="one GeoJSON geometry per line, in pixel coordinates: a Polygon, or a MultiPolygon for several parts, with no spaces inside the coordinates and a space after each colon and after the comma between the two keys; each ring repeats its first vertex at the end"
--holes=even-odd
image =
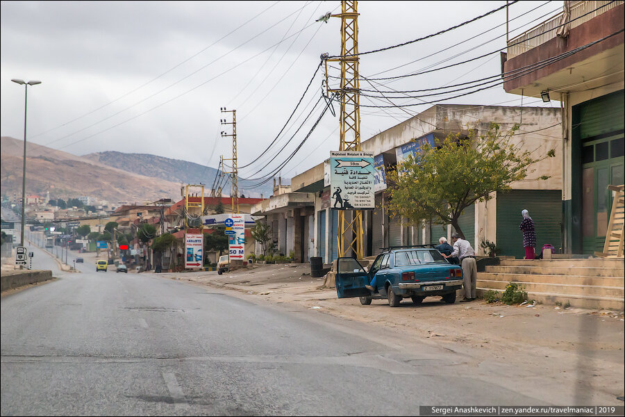
{"type": "MultiPolygon", "coordinates": [[[[560,144],[560,110],[539,107],[437,105],[423,113],[378,133],[361,143],[363,151],[374,152],[378,180],[376,180],[376,208],[365,211],[365,254],[377,254],[381,247],[391,245],[420,245],[437,243],[438,238],[450,238],[451,226],[435,222],[408,224],[406,219],[390,218],[383,204],[387,198],[385,171],[406,157],[410,144],[428,138],[445,138],[450,134],[467,135],[469,129],[479,133],[487,130],[490,122],[509,130],[516,123],[521,129],[512,142],[534,156],[555,149],[556,158],[536,163],[524,181],[512,184],[512,191],[492,195],[488,202],[477,203],[461,215],[460,227],[478,253],[483,253],[481,242],[496,242],[503,254],[523,256],[519,223],[521,211],[533,214],[540,229],[538,246],[551,243],[560,247],[560,194],[562,170],[560,144]],[[549,179],[538,179],[547,174],[549,179]]],[[[291,193],[273,195],[252,209],[254,215],[267,216],[272,227],[276,252],[288,255],[294,252],[296,261],[306,262],[310,256],[321,256],[329,263],[338,256],[338,212],[330,208],[329,177],[326,163],[293,177],[291,193]]]]}

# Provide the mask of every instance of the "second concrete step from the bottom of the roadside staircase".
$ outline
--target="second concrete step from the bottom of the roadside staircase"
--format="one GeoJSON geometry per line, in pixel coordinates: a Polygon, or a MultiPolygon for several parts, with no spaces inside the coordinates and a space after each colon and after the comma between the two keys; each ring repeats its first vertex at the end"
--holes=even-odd
{"type": "MultiPolygon", "coordinates": [[[[555,293],[562,295],[585,295],[588,297],[610,297],[625,301],[625,288],[594,285],[544,284],[542,282],[517,281],[527,293],[555,293]]],[[[505,290],[508,282],[478,279],[477,286],[492,290],[505,290]]]]}

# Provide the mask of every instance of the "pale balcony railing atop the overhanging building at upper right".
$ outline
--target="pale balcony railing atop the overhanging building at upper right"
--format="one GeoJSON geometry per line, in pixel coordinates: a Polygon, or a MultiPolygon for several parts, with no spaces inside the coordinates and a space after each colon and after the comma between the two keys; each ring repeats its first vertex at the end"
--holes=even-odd
{"type": "MultiPolygon", "coordinates": [[[[573,1],[571,4],[571,17],[569,18],[569,29],[588,22],[593,17],[606,13],[611,8],[615,8],[625,1],[573,1]],[[593,11],[594,10],[594,11],[593,11]],[[592,12],[592,13],[589,13],[592,12]],[[583,17],[581,17],[583,16],[583,17]]],[[[562,22],[564,12],[551,17],[547,22],[543,22],[526,33],[508,41],[508,59],[519,56],[544,42],[556,38],[558,26],[562,22]]]]}

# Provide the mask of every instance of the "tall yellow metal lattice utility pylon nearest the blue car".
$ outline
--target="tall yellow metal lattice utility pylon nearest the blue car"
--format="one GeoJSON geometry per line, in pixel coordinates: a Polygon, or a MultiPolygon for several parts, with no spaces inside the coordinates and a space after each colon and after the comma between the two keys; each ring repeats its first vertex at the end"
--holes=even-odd
{"type": "MultiPolygon", "coordinates": [[[[340,151],[360,151],[360,81],[358,79],[358,1],[341,1],[341,56],[325,58],[326,91],[340,93],[340,151]],[[328,61],[338,61],[341,65],[341,84],[339,89],[328,86],[328,61]]],[[[358,259],[365,255],[363,247],[362,210],[351,211],[351,221],[345,217],[346,211],[339,212],[338,253],[349,255],[351,250],[358,259]]]]}

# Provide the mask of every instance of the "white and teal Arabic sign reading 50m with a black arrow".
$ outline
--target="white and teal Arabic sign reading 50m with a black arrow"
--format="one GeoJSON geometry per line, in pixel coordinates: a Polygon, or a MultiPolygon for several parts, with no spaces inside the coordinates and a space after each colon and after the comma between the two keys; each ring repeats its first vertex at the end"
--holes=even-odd
{"type": "Polygon", "coordinates": [[[373,152],[330,152],[330,208],[366,210],[376,208],[373,152]]]}

